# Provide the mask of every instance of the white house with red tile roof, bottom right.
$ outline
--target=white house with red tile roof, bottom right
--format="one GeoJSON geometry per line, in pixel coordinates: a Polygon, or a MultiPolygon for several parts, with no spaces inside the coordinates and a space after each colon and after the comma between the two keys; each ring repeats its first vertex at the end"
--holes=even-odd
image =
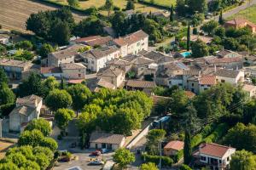
{"type": "Polygon", "coordinates": [[[198,164],[210,166],[213,170],[226,170],[230,167],[235,148],[219,144],[201,144],[194,156],[198,164]]]}

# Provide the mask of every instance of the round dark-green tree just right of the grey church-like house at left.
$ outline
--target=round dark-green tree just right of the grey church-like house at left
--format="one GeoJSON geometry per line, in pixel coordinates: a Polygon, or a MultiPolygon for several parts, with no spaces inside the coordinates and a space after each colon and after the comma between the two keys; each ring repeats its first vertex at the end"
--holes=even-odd
{"type": "Polygon", "coordinates": [[[49,92],[45,99],[45,104],[51,111],[57,111],[61,108],[67,108],[72,105],[72,97],[66,90],[54,89],[49,92]]]}

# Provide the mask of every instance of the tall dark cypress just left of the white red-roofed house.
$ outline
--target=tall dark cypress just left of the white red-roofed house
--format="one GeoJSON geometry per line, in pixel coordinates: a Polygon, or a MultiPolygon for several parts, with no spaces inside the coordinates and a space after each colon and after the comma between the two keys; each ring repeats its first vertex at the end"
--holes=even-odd
{"type": "Polygon", "coordinates": [[[187,129],[185,130],[183,155],[184,155],[184,163],[186,165],[189,165],[189,162],[192,159],[191,134],[190,134],[189,127],[187,127],[187,129]]]}

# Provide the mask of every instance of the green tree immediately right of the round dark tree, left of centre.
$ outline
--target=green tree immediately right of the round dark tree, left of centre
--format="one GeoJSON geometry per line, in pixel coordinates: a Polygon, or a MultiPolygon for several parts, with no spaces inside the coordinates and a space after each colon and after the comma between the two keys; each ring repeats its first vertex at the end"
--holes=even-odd
{"type": "Polygon", "coordinates": [[[73,100],[73,110],[81,111],[85,104],[88,103],[91,92],[90,89],[83,84],[76,84],[67,88],[67,92],[71,95],[73,100]]]}

